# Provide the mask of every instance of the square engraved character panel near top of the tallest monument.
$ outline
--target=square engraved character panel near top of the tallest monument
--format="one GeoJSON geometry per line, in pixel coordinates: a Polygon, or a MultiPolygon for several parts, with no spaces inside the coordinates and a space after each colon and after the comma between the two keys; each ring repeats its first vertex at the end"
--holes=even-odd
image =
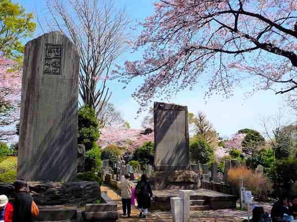
{"type": "Polygon", "coordinates": [[[44,74],[60,75],[63,45],[45,44],[44,74]]]}

